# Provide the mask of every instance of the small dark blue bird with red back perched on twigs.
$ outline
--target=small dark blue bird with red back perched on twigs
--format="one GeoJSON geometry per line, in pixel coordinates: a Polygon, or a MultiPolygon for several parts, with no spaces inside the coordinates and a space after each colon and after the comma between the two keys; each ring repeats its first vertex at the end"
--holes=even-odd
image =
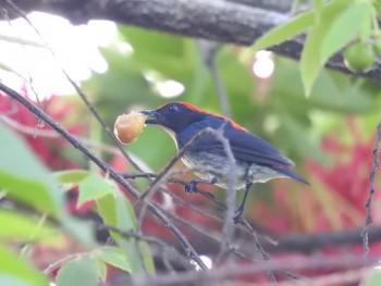
{"type": "MultiPolygon", "coordinates": [[[[291,177],[308,184],[291,170],[294,166],[293,161],[283,157],[268,141],[229,119],[202,111],[187,102],[170,102],[140,113],[147,115],[146,124],[158,125],[167,132],[173,138],[177,150],[205,128],[223,129],[222,134],[229,140],[235,159],[236,189],[245,189],[243,201],[234,214],[235,223],[244,212],[247,194],[254,183],[291,177]]],[[[198,183],[228,188],[231,161],[221,140],[214,135],[208,134],[195,141],[185,151],[182,161],[188,167],[196,169],[195,174],[199,177],[185,186],[187,192],[192,192],[198,183]]]]}

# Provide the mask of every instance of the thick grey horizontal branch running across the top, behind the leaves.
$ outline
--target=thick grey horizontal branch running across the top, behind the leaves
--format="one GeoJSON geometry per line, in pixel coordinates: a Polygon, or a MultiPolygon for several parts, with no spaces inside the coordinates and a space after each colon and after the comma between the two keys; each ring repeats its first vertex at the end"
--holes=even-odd
{"type": "MultiPolygon", "coordinates": [[[[109,20],[194,38],[205,38],[235,45],[251,45],[270,29],[291,20],[280,4],[273,1],[255,0],[13,0],[1,4],[7,14],[2,17],[21,16],[20,7],[25,13],[42,11],[66,17],[72,23],[86,23],[89,20],[109,20]],[[254,7],[257,4],[258,7],[254,7]]],[[[290,4],[290,1],[287,1],[290,4]]],[[[275,53],[299,59],[303,40],[296,38],[271,48],[275,53]]],[[[332,57],[327,66],[354,74],[343,63],[342,55],[332,57]]],[[[381,83],[381,65],[357,76],[381,83]]]]}

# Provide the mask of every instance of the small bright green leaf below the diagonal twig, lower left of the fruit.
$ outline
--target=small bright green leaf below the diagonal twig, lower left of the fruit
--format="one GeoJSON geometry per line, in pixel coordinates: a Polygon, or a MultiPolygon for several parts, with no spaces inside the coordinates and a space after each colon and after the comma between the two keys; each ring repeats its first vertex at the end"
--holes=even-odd
{"type": "Polygon", "coordinates": [[[79,183],[77,206],[114,192],[114,185],[97,174],[89,174],[79,183]]]}

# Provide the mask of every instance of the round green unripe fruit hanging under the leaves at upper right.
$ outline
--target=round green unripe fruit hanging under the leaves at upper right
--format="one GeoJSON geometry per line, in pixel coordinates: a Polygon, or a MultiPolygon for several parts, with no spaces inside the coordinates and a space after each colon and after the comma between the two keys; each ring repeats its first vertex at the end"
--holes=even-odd
{"type": "Polygon", "coordinates": [[[371,45],[356,41],[344,51],[344,63],[354,72],[367,72],[374,62],[374,51],[371,45]]]}

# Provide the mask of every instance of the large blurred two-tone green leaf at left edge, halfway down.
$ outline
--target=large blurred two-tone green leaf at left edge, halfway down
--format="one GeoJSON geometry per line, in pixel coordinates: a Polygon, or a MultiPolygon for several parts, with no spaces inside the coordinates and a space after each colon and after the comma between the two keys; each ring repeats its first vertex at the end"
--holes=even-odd
{"type": "Polygon", "coordinates": [[[63,213],[63,194],[24,140],[0,124],[0,188],[41,212],[63,213]]]}

